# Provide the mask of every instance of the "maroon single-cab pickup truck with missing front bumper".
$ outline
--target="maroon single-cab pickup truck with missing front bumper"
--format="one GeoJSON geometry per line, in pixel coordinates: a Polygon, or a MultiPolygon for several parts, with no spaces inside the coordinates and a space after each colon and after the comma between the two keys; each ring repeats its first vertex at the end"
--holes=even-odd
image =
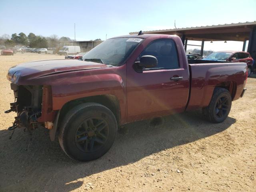
{"type": "Polygon", "coordinates": [[[58,136],[73,159],[88,161],[112,146],[118,125],[202,108],[224,121],[242,97],[247,65],[188,64],[178,36],[140,34],[111,38],[80,60],[43,60],[10,68],[7,78],[17,117],[9,130],[38,127],[58,136]]]}

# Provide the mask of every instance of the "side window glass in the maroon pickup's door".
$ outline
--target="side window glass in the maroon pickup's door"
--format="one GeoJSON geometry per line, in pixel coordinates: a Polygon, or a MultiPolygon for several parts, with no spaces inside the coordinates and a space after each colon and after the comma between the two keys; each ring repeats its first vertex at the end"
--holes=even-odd
{"type": "Polygon", "coordinates": [[[151,69],[176,69],[180,68],[177,50],[173,40],[156,40],[149,44],[140,56],[152,55],[158,60],[158,65],[151,69]]]}

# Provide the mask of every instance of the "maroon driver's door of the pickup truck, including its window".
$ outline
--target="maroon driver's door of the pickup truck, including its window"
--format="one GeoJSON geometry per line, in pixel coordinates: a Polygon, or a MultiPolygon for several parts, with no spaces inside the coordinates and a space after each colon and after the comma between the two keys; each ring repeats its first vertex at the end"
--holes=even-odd
{"type": "Polygon", "coordinates": [[[178,59],[175,42],[171,39],[153,41],[138,60],[144,55],[155,56],[158,65],[142,73],[133,68],[128,70],[128,122],[183,112],[188,101],[189,73],[187,63],[178,59]]]}

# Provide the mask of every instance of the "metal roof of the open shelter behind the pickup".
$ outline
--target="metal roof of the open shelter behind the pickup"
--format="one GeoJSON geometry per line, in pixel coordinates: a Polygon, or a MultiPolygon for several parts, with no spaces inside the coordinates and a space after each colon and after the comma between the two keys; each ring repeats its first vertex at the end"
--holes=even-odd
{"type": "MultiPolygon", "coordinates": [[[[176,34],[182,36],[185,34],[188,40],[248,40],[250,31],[256,26],[256,21],[239,22],[231,24],[219,24],[212,26],[187,27],[177,29],[152,30],[143,33],[155,34],[176,34]]],[[[130,32],[129,34],[138,34],[138,32],[130,32]]]]}

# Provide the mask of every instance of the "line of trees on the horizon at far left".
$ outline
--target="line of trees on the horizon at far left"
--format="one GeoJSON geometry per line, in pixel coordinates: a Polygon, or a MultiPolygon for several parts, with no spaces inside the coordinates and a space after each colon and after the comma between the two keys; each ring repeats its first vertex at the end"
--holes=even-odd
{"type": "Polygon", "coordinates": [[[44,37],[41,35],[35,35],[34,33],[24,34],[23,32],[19,34],[3,34],[0,36],[0,45],[5,45],[6,47],[14,47],[15,45],[30,46],[31,48],[48,48],[57,47],[59,42],[72,42],[69,37],[58,38],[57,35],[51,35],[49,37],[44,37]]]}

